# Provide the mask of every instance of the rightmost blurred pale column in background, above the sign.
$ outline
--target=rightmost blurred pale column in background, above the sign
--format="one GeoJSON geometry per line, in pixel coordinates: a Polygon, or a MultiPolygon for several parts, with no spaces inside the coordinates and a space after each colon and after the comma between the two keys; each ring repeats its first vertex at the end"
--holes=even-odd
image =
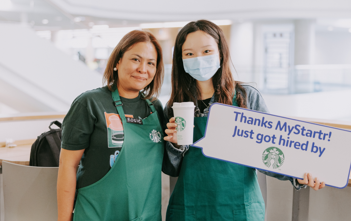
{"type": "Polygon", "coordinates": [[[296,20],[295,22],[294,64],[313,64],[316,41],[314,20],[296,20]]]}

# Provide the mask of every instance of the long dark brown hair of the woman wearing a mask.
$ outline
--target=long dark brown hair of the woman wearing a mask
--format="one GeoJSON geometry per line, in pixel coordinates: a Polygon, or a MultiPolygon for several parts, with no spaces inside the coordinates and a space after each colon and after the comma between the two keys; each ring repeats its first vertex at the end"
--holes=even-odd
{"type": "Polygon", "coordinates": [[[238,106],[246,108],[246,93],[241,82],[235,82],[230,69],[230,54],[227,40],[223,31],[211,21],[201,19],[186,24],[178,33],[173,52],[172,66],[172,92],[171,98],[167,103],[168,116],[173,116],[173,110],[170,108],[174,102],[196,102],[201,99],[200,90],[196,80],[186,73],[182,60],[182,46],[188,34],[196,31],[203,31],[212,36],[218,44],[219,54],[221,57],[220,68],[212,77],[214,93],[216,93],[217,102],[232,105],[233,93],[235,89],[238,106]],[[196,95],[196,96],[194,96],[196,95]]]}

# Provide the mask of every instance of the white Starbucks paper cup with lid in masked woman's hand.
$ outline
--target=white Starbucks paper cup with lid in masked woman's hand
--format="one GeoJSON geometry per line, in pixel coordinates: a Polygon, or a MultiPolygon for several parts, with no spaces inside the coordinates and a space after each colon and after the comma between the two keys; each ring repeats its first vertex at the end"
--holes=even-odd
{"type": "Polygon", "coordinates": [[[178,145],[193,144],[194,108],[193,102],[173,103],[173,113],[176,118],[178,145]]]}

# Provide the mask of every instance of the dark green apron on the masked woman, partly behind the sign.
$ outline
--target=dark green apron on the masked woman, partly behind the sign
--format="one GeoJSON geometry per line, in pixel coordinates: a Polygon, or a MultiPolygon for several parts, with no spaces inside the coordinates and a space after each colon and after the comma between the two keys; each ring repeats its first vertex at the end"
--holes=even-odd
{"type": "MultiPolygon", "coordinates": [[[[236,97],[233,106],[238,106],[236,97]]],[[[207,117],[194,118],[194,142],[204,136],[206,122],[207,117]]],[[[208,158],[200,148],[189,147],[166,221],[263,221],[264,213],[255,169],[208,158]]]]}

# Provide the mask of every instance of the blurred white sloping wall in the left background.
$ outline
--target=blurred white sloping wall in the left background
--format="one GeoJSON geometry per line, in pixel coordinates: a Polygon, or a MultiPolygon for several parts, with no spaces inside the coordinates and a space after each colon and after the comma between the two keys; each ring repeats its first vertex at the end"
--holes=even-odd
{"type": "Polygon", "coordinates": [[[101,74],[31,28],[0,23],[0,30],[0,102],[7,106],[19,112],[67,111],[78,95],[102,86],[101,74]]]}

